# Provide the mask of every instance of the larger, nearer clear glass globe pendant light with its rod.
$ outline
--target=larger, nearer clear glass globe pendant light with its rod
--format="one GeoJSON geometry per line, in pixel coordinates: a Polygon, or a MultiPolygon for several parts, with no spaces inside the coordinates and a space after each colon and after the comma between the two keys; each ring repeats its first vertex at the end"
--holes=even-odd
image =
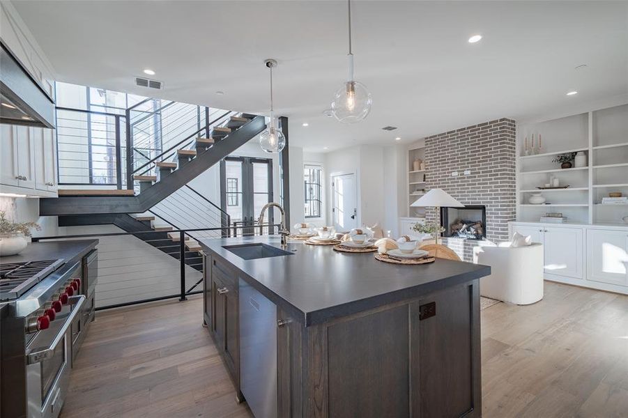
{"type": "Polygon", "coordinates": [[[371,111],[371,93],[366,86],[353,79],[353,53],[351,52],[351,0],[349,6],[349,78],[336,91],[332,102],[332,113],[342,123],[356,123],[366,118],[371,111]]]}

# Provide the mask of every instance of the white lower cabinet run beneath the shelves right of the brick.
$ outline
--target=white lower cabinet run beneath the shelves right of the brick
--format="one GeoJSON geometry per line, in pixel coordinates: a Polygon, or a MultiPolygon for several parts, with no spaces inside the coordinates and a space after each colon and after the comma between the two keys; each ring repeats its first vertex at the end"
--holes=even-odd
{"type": "Polygon", "coordinates": [[[546,279],[628,294],[628,228],[511,222],[544,246],[546,279]]]}

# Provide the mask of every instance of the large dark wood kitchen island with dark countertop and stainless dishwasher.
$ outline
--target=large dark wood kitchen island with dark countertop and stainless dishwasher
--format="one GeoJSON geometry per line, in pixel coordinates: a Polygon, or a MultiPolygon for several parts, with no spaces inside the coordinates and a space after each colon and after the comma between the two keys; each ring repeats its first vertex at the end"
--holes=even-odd
{"type": "Polygon", "coordinates": [[[257,418],[481,415],[489,267],[282,252],[278,237],[201,244],[204,322],[257,418]]]}

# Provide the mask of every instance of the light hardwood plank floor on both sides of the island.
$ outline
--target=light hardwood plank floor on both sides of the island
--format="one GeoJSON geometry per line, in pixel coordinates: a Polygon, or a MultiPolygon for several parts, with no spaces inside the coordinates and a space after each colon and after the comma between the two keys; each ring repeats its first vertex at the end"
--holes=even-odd
{"type": "MultiPolygon", "coordinates": [[[[98,312],[62,418],[250,417],[201,298],[98,312]]],[[[628,417],[628,297],[546,282],[482,311],[483,417],[628,417]]]]}

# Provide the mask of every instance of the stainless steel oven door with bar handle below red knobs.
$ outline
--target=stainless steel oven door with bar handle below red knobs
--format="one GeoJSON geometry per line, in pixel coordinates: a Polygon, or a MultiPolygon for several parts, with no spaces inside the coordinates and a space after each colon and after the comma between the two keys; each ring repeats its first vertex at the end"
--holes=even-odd
{"type": "Polygon", "coordinates": [[[72,353],[72,323],[82,316],[84,295],[69,298],[68,306],[26,347],[26,392],[29,417],[56,418],[68,392],[72,353]]]}

